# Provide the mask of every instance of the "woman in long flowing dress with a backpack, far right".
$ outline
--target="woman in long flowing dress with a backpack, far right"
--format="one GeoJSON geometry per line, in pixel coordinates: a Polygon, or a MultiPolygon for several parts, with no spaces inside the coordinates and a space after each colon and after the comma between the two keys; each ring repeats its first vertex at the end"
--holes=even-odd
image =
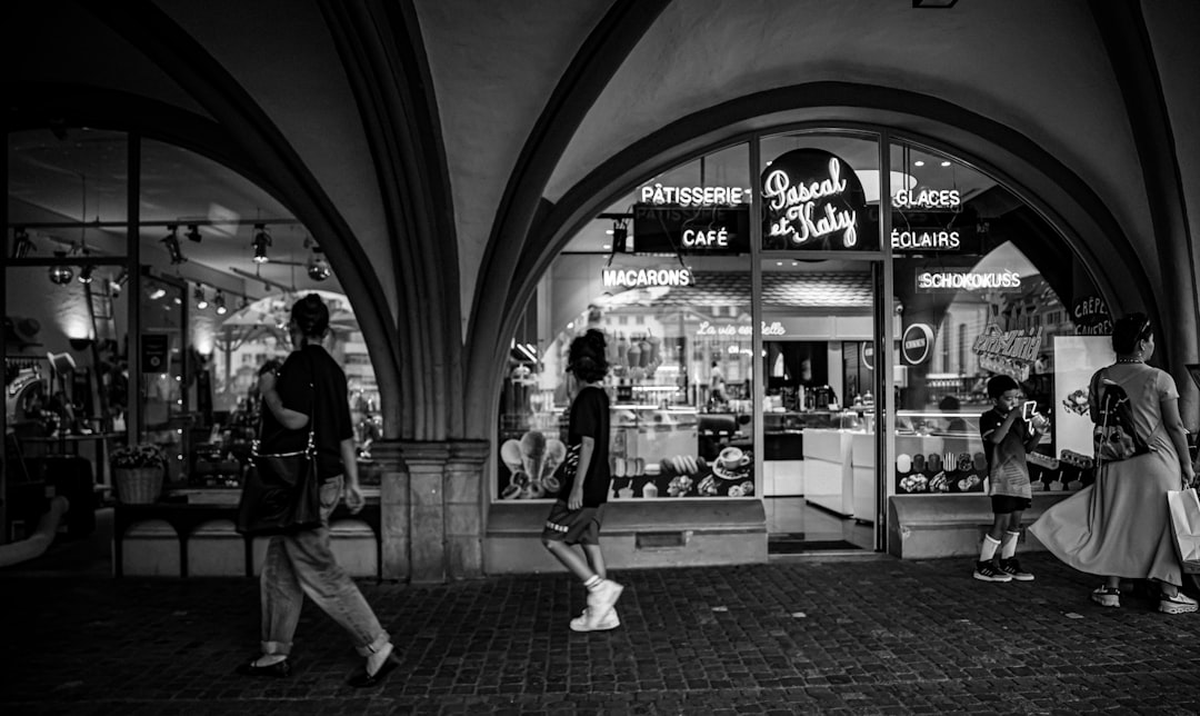
{"type": "MultiPolygon", "coordinates": [[[[1195,481],[1180,394],[1170,374],[1145,363],[1154,334],[1144,314],[1116,322],[1112,348],[1117,362],[1103,375],[1129,396],[1134,430],[1150,452],[1102,463],[1096,484],[1045,511],[1030,532],[1067,565],[1104,577],[1091,595],[1103,607],[1121,605],[1122,579],[1152,579],[1160,589],[1159,611],[1195,611],[1195,599],[1180,591],[1183,573],[1166,507],[1168,490],[1195,481]]],[[[1093,390],[1088,400],[1096,420],[1099,395],[1093,390]]]]}

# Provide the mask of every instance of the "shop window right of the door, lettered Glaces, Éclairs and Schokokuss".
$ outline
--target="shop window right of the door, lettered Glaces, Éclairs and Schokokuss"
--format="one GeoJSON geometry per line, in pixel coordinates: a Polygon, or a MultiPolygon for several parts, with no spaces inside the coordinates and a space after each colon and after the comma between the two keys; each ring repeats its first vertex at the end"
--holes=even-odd
{"type": "Polygon", "coordinates": [[[1081,488],[1091,422],[1080,395],[1111,360],[1109,339],[1091,335],[1106,321],[1091,279],[1058,232],[991,177],[917,144],[890,153],[901,317],[890,489],[985,491],[979,419],[998,375],[1016,381],[1031,414],[1050,419],[1030,460],[1033,489],[1081,488]]]}

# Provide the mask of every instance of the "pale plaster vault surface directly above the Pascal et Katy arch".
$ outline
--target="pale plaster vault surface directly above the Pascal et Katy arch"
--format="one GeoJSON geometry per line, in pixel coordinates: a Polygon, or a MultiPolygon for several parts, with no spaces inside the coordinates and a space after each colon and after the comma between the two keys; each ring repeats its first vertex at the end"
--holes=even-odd
{"type": "MultiPolygon", "coordinates": [[[[674,119],[820,80],[932,95],[1021,132],[1082,177],[1153,256],[1124,106],[1084,0],[966,0],[952,10],[896,0],[676,0],[584,120],[547,198],[674,119]]],[[[1146,270],[1157,282],[1157,262],[1146,270]]]]}

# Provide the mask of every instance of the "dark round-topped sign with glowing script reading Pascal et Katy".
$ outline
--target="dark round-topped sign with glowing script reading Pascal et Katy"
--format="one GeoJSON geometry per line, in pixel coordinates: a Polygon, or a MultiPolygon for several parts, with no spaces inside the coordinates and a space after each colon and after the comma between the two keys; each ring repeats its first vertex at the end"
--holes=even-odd
{"type": "Polygon", "coordinates": [[[854,171],[822,149],[793,149],[762,174],[763,247],[875,250],[866,195],[854,171]]]}

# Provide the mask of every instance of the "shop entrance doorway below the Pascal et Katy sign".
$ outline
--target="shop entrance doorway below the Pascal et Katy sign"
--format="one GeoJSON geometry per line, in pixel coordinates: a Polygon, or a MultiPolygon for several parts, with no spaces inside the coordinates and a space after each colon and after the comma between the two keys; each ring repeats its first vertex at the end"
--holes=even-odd
{"type": "Polygon", "coordinates": [[[762,261],[762,476],[773,554],[875,548],[876,261],[762,261]]]}

